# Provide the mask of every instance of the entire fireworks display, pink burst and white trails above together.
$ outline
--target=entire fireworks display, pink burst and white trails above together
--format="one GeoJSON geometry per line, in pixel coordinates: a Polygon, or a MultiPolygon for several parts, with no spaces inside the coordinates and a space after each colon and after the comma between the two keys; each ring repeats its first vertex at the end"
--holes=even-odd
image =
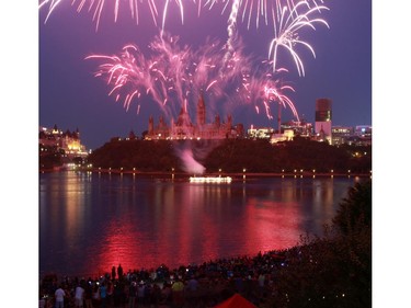
{"type": "MultiPolygon", "coordinates": [[[[41,0],[39,9],[48,8],[45,22],[64,0],[41,0]]],[[[128,14],[139,23],[140,15],[150,15],[155,25],[161,24],[161,34],[150,44],[148,57],[136,45],[126,45],[119,55],[91,55],[87,59],[102,61],[95,77],[104,78],[110,88],[109,95],[123,101],[129,110],[137,102],[156,102],[163,112],[173,116],[181,107],[189,110],[199,93],[206,93],[210,102],[222,100],[254,104],[260,113],[261,105],[269,118],[273,118],[272,103],[289,107],[298,119],[297,110],[286,94],[294,88],[282,82],[278,76],[288,70],[278,65],[278,54],[283,48],[293,58],[299,76],[305,76],[302,59],[298,47],[307,48],[316,57],[313,47],[300,37],[302,28],[316,30],[317,24],[329,27],[319,14],[329,10],[322,0],[71,0],[78,12],[88,10],[93,15],[96,30],[104,11],[112,10],[114,22],[119,14],[128,14]],[[194,50],[180,46],[178,36],[164,32],[170,5],[176,5],[181,22],[187,3],[196,7],[199,15],[203,8],[229,12],[227,21],[227,42],[207,42],[194,50]],[[142,11],[145,11],[142,13],[142,11]],[[147,13],[147,11],[149,13],[147,13]],[[259,69],[255,61],[246,56],[238,22],[247,23],[248,30],[254,24],[273,27],[269,48],[269,60],[262,61],[259,69]],[[271,71],[266,68],[271,66],[271,71]],[[263,68],[261,68],[263,67],[263,68]]]]}

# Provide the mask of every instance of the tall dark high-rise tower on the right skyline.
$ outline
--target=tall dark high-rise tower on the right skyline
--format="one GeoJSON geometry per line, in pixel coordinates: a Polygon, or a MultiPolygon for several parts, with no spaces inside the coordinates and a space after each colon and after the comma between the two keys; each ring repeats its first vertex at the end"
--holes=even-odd
{"type": "Polygon", "coordinates": [[[330,99],[318,99],[316,101],[316,136],[320,141],[332,145],[332,101],[330,99]]]}

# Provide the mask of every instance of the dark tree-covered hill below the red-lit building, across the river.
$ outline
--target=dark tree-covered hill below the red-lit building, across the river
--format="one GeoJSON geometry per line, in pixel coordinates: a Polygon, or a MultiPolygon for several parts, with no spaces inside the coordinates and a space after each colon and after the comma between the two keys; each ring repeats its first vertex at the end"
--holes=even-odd
{"type": "Polygon", "coordinates": [[[89,156],[94,168],[139,171],[181,171],[181,151],[190,149],[207,173],[218,172],[333,172],[368,173],[372,147],[330,146],[305,138],[271,145],[267,140],[112,140],[89,156]]]}

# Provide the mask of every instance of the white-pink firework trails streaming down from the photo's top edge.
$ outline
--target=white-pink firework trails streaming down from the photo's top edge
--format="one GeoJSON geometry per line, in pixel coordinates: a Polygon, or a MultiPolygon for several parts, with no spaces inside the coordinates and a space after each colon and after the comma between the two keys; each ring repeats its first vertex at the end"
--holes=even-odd
{"type": "MultiPolygon", "coordinates": [[[[48,7],[48,13],[45,22],[47,22],[52,12],[64,0],[41,0],[39,9],[48,7]]],[[[104,10],[111,8],[114,12],[114,22],[117,21],[121,9],[122,11],[128,11],[130,16],[139,22],[141,7],[147,7],[145,10],[149,10],[150,15],[155,25],[159,23],[161,18],[161,32],[164,31],[167,15],[169,12],[170,2],[178,5],[181,22],[184,22],[184,4],[191,2],[197,5],[196,13],[199,15],[202,8],[208,8],[209,10],[222,5],[221,13],[230,11],[228,18],[227,34],[228,39],[226,43],[225,61],[222,69],[225,69],[227,60],[235,53],[235,41],[238,37],[237,22],[239,19],[241,22],[247,22],[248,27],[251,25],[251,21],[255,20],[255,26],[259,27],[263,21],[265,25],[272,24],[274,30],[274,38],[272,38],[269,49],[269,58],[272,59],[273,71],[277,68],[277,55],[278,48],[283,47],[287,50],[298,70],[299,76],[305,76],[304,64],[301,57],[297,53],[297,46],[306,47],[313,57],[316,53],[310,44],[300,38],[299,31],[305,27],[316,30],[316,24],[323,24],[329,26],[326,20],[317,18],[317,14],[324,10],[329,10],[322,5],[322,0],[307,0],[307,1],[295,1],[295,0],[72,0],[71,5],[77,7],[77,11],[80,12],[84,8],[91,11],[93,14],[93,21],[95,21],[96,30],[99,28],[100,20],[104,10]],[[127,5],[128,3],[128,5],[127,5]],[[159,7],[162,5],[162,13],[159,7]]]]}

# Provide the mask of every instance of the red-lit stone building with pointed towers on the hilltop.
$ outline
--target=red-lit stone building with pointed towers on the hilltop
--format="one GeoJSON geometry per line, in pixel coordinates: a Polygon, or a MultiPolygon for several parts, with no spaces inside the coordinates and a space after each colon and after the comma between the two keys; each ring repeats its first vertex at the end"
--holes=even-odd
{"type": "Polygon", "coordinates": [[[203,95],[199,96],[196,111],[196,124],[193,124],[187,111],[182,107],[179,117],[169,127],[164,118],[160,116],[156,126],[152,116],[148,121],[147,140],[174,140],[174,139],[226,139],[243,136],[241,124],[232,125],[231,115],[227,116],[227,122],[221,122],[216,115],[214,122],[206,123],[206,106],[203,95]]]}

